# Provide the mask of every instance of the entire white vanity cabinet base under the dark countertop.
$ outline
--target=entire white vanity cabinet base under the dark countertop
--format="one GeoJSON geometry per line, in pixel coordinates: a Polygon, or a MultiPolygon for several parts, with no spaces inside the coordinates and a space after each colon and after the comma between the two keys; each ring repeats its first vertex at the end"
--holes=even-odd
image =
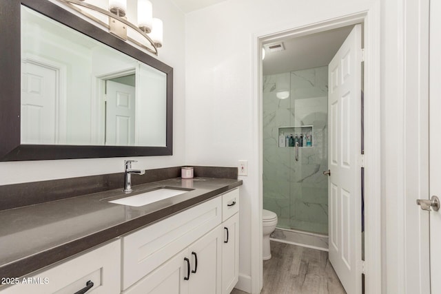
{"type": "Polygon", "coordinates": [[[227,294],[238,282],[239,190],[32,274],[0,294],[227,294]],[[47,279],[47,280],[45,280],[47,279]],[[34,280],[36,281],[36,280],[34,280]]]}

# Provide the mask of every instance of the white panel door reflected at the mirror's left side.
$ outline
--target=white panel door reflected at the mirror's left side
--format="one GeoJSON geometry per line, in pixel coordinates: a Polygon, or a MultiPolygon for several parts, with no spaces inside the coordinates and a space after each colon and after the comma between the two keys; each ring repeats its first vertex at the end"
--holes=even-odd
{"type": "Polygon", "coordinates": [[[21,144],[57,142],[57,70],[21,63],[21,144]]]}

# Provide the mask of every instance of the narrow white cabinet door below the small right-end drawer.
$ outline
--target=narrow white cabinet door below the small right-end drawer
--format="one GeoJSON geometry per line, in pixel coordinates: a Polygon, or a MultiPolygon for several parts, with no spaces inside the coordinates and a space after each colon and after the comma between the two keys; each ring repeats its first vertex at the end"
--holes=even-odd
{"type": "Polygon", "coordinates": [[[239,213],[223,222],[222,294],[229,294],[239,278],[239,213]]]}

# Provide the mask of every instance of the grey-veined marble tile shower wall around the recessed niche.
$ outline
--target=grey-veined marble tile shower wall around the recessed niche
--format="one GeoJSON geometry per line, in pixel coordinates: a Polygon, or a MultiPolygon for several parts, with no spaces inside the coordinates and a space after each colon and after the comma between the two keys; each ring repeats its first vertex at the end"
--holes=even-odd
{"type": "Polygon", "coordinates": [[[327,66],[263,77],[263,207],[280,228],[328,231],[327,84],[327,66]],[[278,147],[278,127],[302,125],[314,126],[313,145],[299,148],[296,161],[295,148],[278,147]]]}

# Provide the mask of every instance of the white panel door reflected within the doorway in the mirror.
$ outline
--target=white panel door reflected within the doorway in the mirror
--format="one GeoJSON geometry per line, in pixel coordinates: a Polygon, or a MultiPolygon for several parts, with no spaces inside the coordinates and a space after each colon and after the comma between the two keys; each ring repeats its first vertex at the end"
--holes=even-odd
{"type": "Polygon", "coordinates": [[[105,145],[135,143],[135,87],[106,81],[105,145]]]}

